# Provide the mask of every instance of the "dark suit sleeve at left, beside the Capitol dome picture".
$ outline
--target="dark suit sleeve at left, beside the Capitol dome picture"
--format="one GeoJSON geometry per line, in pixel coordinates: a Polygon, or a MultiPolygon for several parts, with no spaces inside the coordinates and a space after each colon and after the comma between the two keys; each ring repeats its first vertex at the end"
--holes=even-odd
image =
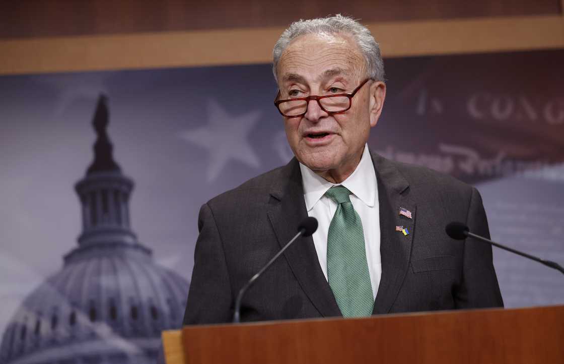
{"type": "Polygon", "coordinates": [[[223,243],[208,204],[198,217],[200,235],[194,253],[194,269],[183,324],[231,321],[232,293],[223,243]]]}

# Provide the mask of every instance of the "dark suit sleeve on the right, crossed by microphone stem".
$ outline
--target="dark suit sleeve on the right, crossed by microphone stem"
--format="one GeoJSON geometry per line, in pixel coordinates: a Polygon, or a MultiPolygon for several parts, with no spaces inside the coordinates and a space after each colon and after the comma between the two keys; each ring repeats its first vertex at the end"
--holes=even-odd
{"type": "MultiPolygon", "coordinates": [[[[474,234],[490,238],[482,197],[474,187],[466,225],[474,234]]],[[[464,241],[463,254],[462,281],[455,295],[457,308],[503,307],[503,299],[493,268],[491,245],[467,238],[464,241]]]]}

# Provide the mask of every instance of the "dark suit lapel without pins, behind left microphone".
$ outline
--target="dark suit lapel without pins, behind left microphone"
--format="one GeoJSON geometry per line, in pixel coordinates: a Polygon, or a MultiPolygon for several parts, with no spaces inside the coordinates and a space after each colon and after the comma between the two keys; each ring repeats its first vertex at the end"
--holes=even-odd
{"type": "MultiPolygon", "coordinates": [[[[302,177],[294,158],[285,166],[280,185],[271,189],[268,218],[276,238],[283,247],[297,233],[298,224],[307,217],[303,199],[302,177]]],[[[300,238],[284,252],[284,256],[302,290],[324,317],[341,315],[329,283],[321,271],[313,238],[300,238]]]]}

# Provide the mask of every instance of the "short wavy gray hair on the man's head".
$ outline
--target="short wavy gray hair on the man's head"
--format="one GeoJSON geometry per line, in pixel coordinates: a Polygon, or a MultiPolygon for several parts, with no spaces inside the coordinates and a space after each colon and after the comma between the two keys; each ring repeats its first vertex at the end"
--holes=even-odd
{"type": "Polygon", "coordinates": [[[304,34],[350,34],[356,41],[360,53],[366,64],[367,76],[376,81],[384,81],[384,61],[380,54],[380,47],[370,30],[349,16],[337,14],[335,16],[318,17],[316,19],[294,21],[284,30],[272,50],[272,73],[278,81],[277,67],[282,53],[297,37],[304,34]]]}

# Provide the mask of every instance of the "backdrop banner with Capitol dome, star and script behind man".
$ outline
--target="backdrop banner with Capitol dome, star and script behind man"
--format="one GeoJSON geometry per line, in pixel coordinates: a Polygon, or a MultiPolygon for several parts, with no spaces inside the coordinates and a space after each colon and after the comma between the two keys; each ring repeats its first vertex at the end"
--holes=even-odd
{"type": "MultiPolygon", "coordinates": [[[[472,183],[493,240],[564,264],[562,64],[386,59],[369,147],[472,183]]],[[[154,362],[200,206],[293,156],[276,92],[268,64],[0,77],[0,363],[154,362]]],[[[561,273],[493,254],[506,307],[564,303],[561,273]]]]}

